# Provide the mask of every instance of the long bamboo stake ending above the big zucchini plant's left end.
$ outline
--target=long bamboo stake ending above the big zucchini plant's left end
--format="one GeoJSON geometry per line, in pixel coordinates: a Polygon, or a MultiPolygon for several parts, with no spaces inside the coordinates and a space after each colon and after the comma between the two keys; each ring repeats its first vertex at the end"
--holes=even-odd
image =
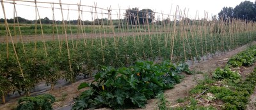
{"type": "Polygon", "coordinates": [[[67,45],[67,51],[68,51],[69,69],[70,69],[70,71],[72,71],[71,59],[70,59],[70,52],[69,52],[69,48],[68,48],[67,31],[66,31],[66,27],[65,27],[65,21],[64,21],[64,18],[63,18],[63,11],[62,11],[62,6],[61,6],[61,0],[59,0],[59,3],[60,3],[60,8],[61,8],[62,23],[63,23],[63,27],[64,27],[65,39],[66,39],[66,45],[67,45]]]}

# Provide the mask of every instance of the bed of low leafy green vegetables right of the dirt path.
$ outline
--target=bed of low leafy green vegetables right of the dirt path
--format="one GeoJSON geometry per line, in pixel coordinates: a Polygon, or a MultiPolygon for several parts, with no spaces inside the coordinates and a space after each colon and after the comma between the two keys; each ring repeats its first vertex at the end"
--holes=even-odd
{"type": "MultiPolygon", "coordinates": [[[[186,109],[246,109],[248,98],[256,86],[256,67],[244,80],[238,71],[233,71],[232,67],[251,66],[254,64],[255,50],[255,45],[250,46],[247,50],[231,57],[225,67],[217,68],[212,73],[212,78],[206,77],[189,92],[191,97],[188,101],[191,102],[189,103],[191,105],[184,107],[186,109]],[[194,98],[198,96],[198,93],[203,93],[200,96],[202,97],[200,102],[207,100],[206,103],[210,106],[204,107],[194,98]],[[223,104],[216,105],[215,101],[223,104]]],[[[176,109],[184,109],[184,107],[176,109]]]]}

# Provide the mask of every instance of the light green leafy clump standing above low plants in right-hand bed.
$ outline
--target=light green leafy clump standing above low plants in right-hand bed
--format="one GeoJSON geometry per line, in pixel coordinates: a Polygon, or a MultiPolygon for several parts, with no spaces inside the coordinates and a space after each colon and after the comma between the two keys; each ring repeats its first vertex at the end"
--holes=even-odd
{"type": "Polygon", "coordinates": [[[234,83],[238,83],[241,79],[241,75],[237,71],[232,71],[228,66],[224,69],[220,69],[219,67],[213,72],[212,78],[214,79],[228,79],[234,83]]]}

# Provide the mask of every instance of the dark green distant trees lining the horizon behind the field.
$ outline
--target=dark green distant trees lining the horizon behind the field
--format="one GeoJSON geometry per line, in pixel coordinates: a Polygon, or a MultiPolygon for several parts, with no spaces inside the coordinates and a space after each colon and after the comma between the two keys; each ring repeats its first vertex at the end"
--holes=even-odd
{"type": "MultiPolygon", "coordinates": [[[[228,20],[232,20],[233,18],[237,18],[237,19],[241,19],[241,20],[251,20],[253,22],[256,22],[256,1],[255,3],[251,2],[251,1],[243,1],[241,2],[239,5],[237,5],[235,8],[232,7],[223,7],[222,10],[220,11],[220,13],[218,13],[218,17],[216,17],[214,15],[214,17],[212,17],[212,20],[223,20],[223,21],[228,21],[228,20]]],[[[17,23],[17,19],[19,19],[19,23],[20,24],[35,24],[35,23],[40,23],[39,19],[38,20],[27,20],[25,18],[22,17],[15,17],[15,18],[10,18],[7,19],[8,23],[17,23]]],[[[190,21],[189,18],[184,18],[184,19],[188,19],[188,21],[190,21]]],[[[56,24],[62,24],[62,22],[60,20],[50,20],[49,18],[45,17],[45,18],[41,18],[41,23],[42,24],[52,24],[53,22],[56,24]]],[[[150,10],[150,9],[142,9],[139,10],[138,8],[129,8],[127,10],[125,10],[124,13],[124,18],[120,19],[123,20],[124,23],[128,23],[128,24],[132,24],[132,25],[140,25],[140,24],[150,24],[152,22],[158,22],[159,25],[161,25],[162,23],[170,23],[170,18],[166,18],[163,21],[161,20],[156,20],[155,19],[155,15],[154,15],[154,11],[150,10]]],[[[77,25],[80,24],[81,20],[65,20],[65,22],[67,24],[72,24],[72,25],[77,25]]],[[[119,20],[113,20],[113,25],[118,25],[118,22],[120,22],[119,20]]],[[[0,19],[0,23],[4,23],[4,19],[1,18],[0,19]]],[[[81,21],[81,24],[83,25],[109,25],[109,20],[108,18],[97,18],[93,21],[89,21],[89,20],[84,20],[81,21]]]]}

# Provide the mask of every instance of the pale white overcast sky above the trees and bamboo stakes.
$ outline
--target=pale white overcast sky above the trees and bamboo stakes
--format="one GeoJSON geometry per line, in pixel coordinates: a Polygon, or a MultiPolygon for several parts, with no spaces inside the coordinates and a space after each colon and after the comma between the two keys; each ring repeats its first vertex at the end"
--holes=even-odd
{"type": "MultiPolygon", "coordinates": [[[[13,18],[13,4],[6,3],[6,2],[13,2],[12,0],[3,0],[4,3],[4,10],[6,13],[6,18],[13,18]]],[[[35,20],[36,13],[35,13],[35,3],[29,2],[21,2],[25,0],[16,0],[15,6],[17,10],[17,16],[26,18],[28,20],[35,20]],[[27,5],[27,6],[25,6],[27,5]]],[[[33,0],[26,0],[26,1],[33,1],[33,0]]],[[[48,17],[52,20],[52,4],[50,3],[59,3],[59,0],[37,0],[38,2],[46,2],[46,3],[37,3],[38,12],[40,18],[48,17]],[[47,8],[41,8],[47,7],[47,8]]],[[[94,20],[95,18],[108,18],[108,10],[111,9],[111,18],[124,18],[125,9],[128,8],[139,8],[142,10],[144,8],[151,9],[158,13],[156,14],[156,18],[166,18],[171,15],[170,18],[173,18],[172,15],[175,15],[175,10],[179,7],[178,15],[184,15],[184,11],[188,18],[191,19],[201,19],[205,18],[205,12],[207,12],[207,17],[211,18],[213,15],[217,15],[221,11],[224,6],[227,7],[236,7],[238,4],[243,2],[244,0],[81,0],[81,8],[83,10],[82,13],[82,20],[94,20]],[[96,9],[97,14],[95,12],[95,8],[91,6],[99,7],[96,9]],[[102,8],[102,9],[101,9],[102,8]],[[105,9],[105,10],[104,10],[105,9]],[[120,11],[119,11],[120,9],[120,11]]],[[[250,0],[253,3],[255,0],[250,0]]],[[[54,17],[56,20],[77,20],[79,17],[78,13],[78,6],[80,0],[61,0],[61,3],[67,3],[70,5],[62,4],[63,9],[63,17],[61,15],[60,4],[54,4],[54,17]],[[74,4],[74,5],[71,5],[74,4]]],[[[1,5],[2,6],[2,5],[1,5]]],[[[81,13],[80,13],[81,15],[81,13]]],[[[3,9],[0,10],[0,18],[4,18],[3,9]]],[[[37,15],[38,18],[38,15],[37,15]]]]}

